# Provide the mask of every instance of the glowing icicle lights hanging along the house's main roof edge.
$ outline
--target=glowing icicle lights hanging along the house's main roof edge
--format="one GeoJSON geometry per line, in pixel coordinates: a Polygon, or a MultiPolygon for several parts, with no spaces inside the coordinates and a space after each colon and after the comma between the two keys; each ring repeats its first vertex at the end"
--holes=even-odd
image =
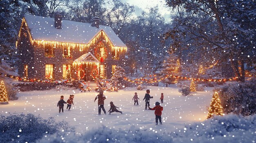
{"type": "MultiPolygon", "coordinates": [[[[26,28],[28,29],[28,33],[29,33],[29,39],[31,41],[32,44],[34,45],[38,45],[38,46],[52,46],[52,47],[70,47],[71,48],[76,48],[78,47],[79,49],[82,49],[84,51],[85,48],[89,48],[90,46],[94,45],[97,43],[97,41],[103,37],[105,38],[106,43],[108,43],[113,50],[118,49],[119,51],[127,51],[127,47],[118,47],[118,46],[114,46],[114,44],[112,44],[112,42],[110,41],[109,37],[106,35],[106,33],[104,32],[104,30],[99,31],[94,37],[92,37],[92,39],[87,43],[87,44],[79,44],[79,43],[69,43],[69,42],[57,42],[57,41],[44,41],[44,40],[35,40],[32,38],[31,33],[29,31],[29,28],[27,26],[27,22],[25,20],[25,18],[22,19],[22,24],[20,26],[20,31],[18,34],[18,37],[21,36],[21,31],[22,31],[22,26],[25,25],[26,28]]],[[[16,42],[16,48],[18,47],[18,41],[16,42]]]]}

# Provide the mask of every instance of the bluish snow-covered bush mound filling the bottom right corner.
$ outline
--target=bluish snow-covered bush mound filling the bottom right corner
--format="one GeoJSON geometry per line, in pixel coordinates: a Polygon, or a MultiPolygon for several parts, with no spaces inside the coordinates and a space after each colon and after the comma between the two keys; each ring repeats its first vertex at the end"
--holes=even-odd
{"type": "Polygon", "coordinates": [[[256,141],[256,114],[229,114],[185,125],[171,132],[173,143],[252,143],[256,141]]]}

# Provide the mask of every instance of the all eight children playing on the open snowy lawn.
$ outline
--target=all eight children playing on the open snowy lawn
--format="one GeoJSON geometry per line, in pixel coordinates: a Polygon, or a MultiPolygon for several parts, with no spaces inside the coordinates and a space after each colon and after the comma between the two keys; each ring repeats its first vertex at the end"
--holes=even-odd
{"type": "MultiPolygon", "coordinates": [[[[150,90],[146,90],[146,94],[145,94],[145,97],[143,99],[143,101],[145,100],[145,110],[155,110],[155,124],[157,125],[158,124],[158,120],[159,120],[159,123],[162,124],[162,110],[163,110],[163,107],[160,106],[160,103],[159,102],[156,102],[155,103],[155,107],[154,108],[150,108],[150,104],[149,104],[149,101],[150,99],[152,99],[153,97],[150,97],[149,95],[150,93],[150,90]]],[[[74,105],[73,103],[73,99],[74,99],[74,95],[70,95],[69,99],[67,100],[67,102],[65,102],[64,100],[64,96],[61,96],[61,99],[60,101],[58,101],[58,104],[57,106],[59,107],[59,113],[63,112],[63,107],[64,107],[64,103],[66,104],[67,103],[67,108],[68,110],[70,110],[72,104],[74,105]]],[[[99,90],[99,95],[97,95],[97,97],[95,97],[94,99],[94,102],[98,99],[98,108],[99,108],[99,115],[101,114],[101,109],[103,110],[104,114],[106,114],[106,110],[104,108],[104,100],[106,99],[105,95],[103,95],[103,90],[99,90]]],[[[132,100],[134,101],[134,105],[135,103],[137,103],[137,105],[139,105],[138,103],[138,95],[137,95],[137,92],[135,92],[135,95],[133,96],[132,100]]],[[[161,97],[160,97],[160,100],[161,100],[161,103],[163,103],[163,100],[164,100],[164,93],[161,93],[161,97]]],[[[123,112],[117,110],[117,106],[114,105],[114,103],[111,101],[110,102],[110,109],[108,110],[109,114],[111,114],[112,112],[119,112],[121,114],[123,114],[123,112]]]]}

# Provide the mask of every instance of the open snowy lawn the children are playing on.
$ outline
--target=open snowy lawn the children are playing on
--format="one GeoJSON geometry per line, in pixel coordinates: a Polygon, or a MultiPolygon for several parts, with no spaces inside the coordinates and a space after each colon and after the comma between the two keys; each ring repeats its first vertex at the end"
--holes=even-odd
{"type": "Polygon", "coordinates": [[[125,88],[118,92],[104,92],[106,96],[105,109],[108,112],[110,101],[113,101],[118,110],[123,114],[113,112],[111,115],[98,115],[97,100],[94,103],[94,98],[98,92],[79,92],[79,90],[46,90],[46,91],[31,91],[18,93],[19,99],[9,101],[8,105],[0,105],[0,114],[8,113],[32,113],[40,114],[43,118],[55,117],[56,120],[68,121],[73,125],[76,132],[83,133],[86,130],[99,128],[105,125],[109,128],[121,128],[127,130],[134,125],[145,130],[155,130],[157,132],[172,132],[177,128],[184,128],[185,124],[190,124],[195,121],[204,121],[207,117],[207,106],[210,105],[213,95],[212,88],[206,88],[207,92],[193,92],[193,96],[184,97],[178,92],[176,85],[173,87],[155,87],[148,86],[150,95],[150,106],[153,108],[156,101],[159,101],[161,92],[164,93],[164,107],[162,111],[163,125],[155,125],[154,111],[145,110],[144,98],[145,90],[137,90],[136,88],[125,88]],[[134,92],[138,93],[139,106],[133,105],[132,97],[134,92]],[[64,100],[67,101],[69,95],[75,95],[74,106],[70,111],[64,106],[64,113],[58,113],[57,103],[61,95],[64,95],[64,100]]]}

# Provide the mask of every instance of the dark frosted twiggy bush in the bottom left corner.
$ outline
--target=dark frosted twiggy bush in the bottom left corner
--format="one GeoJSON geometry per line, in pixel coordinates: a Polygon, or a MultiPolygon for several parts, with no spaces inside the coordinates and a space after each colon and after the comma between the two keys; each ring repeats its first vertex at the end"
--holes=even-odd
{"type": "Polygon", "coordinates": [[[53,117],[43,119],[34,114],[9,114],[7,117],[0,115],[1,143],[30,143],[62,130],[74,131],[74,127],[66,121],[56,122],[53,117]]]}

